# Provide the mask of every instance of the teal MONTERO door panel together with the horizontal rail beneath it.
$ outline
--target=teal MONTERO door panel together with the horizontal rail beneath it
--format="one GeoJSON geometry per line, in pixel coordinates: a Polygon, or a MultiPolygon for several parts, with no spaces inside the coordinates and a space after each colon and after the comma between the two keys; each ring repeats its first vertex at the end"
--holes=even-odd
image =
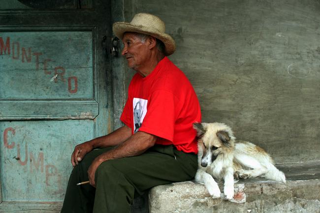
{"type": "Polygon", "coordinates": [[[0,34],[0,120],[98,115],[92,31],[0,34]]]}

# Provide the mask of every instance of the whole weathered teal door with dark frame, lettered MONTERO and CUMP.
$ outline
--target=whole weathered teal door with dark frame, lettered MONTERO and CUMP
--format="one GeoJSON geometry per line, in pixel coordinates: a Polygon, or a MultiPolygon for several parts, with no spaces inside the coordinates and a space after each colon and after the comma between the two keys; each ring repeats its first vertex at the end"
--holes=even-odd
{"type": "Polygon", "coordinates": [[[59,211],[74,146],[112,128],[109,2],[45,1],[0,5],[1,213],[59,211]]]}

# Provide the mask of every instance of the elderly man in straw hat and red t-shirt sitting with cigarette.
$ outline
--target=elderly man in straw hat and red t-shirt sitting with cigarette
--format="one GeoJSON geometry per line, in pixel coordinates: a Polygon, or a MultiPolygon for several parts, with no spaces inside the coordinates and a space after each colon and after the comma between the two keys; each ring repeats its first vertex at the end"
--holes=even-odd
{"type": "Polygon", "coordinates": [[[175,43],[164,23],[139,13],[113,31],[136,71],[120,118],[125,125],[75,147],[62,213],[129,213],[136,195],[191,180],[197,170],[192,123],[201,122],[200,106],[187,77],[166,57],[175,43]]]}

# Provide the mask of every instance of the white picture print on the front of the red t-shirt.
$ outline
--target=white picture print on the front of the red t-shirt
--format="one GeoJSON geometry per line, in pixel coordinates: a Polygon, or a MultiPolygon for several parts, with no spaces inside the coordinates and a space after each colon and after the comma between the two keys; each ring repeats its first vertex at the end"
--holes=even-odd
{"type": "Polygon", "coordinates": [[[148,100],[142,98],[133,98],[133,123],[134,123],[134,131],[136,133],[142,122],[144,117],[147,114],[147,104],[148,100]]]}

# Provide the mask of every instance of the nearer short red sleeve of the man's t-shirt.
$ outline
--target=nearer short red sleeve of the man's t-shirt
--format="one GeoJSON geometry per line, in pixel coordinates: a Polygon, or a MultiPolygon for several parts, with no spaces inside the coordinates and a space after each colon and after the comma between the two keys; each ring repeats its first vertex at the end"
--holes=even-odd
{"type": "Polygon", "coordinates": [[[147,113],[139,131],[173,141],[179,100],[170,91],[154,91],[149,98],[147,113]]]}

